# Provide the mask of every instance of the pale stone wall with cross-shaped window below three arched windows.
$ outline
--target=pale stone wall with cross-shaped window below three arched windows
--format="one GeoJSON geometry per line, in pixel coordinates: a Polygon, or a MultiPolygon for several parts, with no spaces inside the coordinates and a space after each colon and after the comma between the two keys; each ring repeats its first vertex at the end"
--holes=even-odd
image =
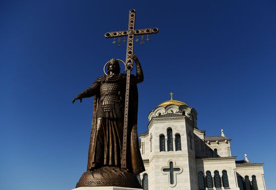
{"type": "MultiPolygon", "coordinates": [[[[152,135],[152,152],[149,153],[149,189],[194,189],[191,183],[196,184],[196,167],[194,144],[193,149],[188,148],[187,128],[193,134],[191,126],[186,126],[185,118],[175,118],[166,120],[157,120],[149,125],[149,137],[152,135]],[[168,151],[167,129],[172,129],[173,151],[168,151]],[[160,135],[165,136],[165,151],[160,151],[160,135]],[[176,151],[175,135],[181,136],[181,150],[176,151]],[[190,156],[189,156],[190,155],[190,156]],[[164,169],[170,168],[170,162],[173,162],[174,171],[173,184],[170,178],[170,172],[164,169]],[[194,171],[192,171],[194,170],[194,171]],[[191,179],[193,177],[193,179],[191,179]]],[[[193,142],[193,141],[192,141],[193,142]]],[[[149,146],[150,150],[150,146],[149,146]]]]}

